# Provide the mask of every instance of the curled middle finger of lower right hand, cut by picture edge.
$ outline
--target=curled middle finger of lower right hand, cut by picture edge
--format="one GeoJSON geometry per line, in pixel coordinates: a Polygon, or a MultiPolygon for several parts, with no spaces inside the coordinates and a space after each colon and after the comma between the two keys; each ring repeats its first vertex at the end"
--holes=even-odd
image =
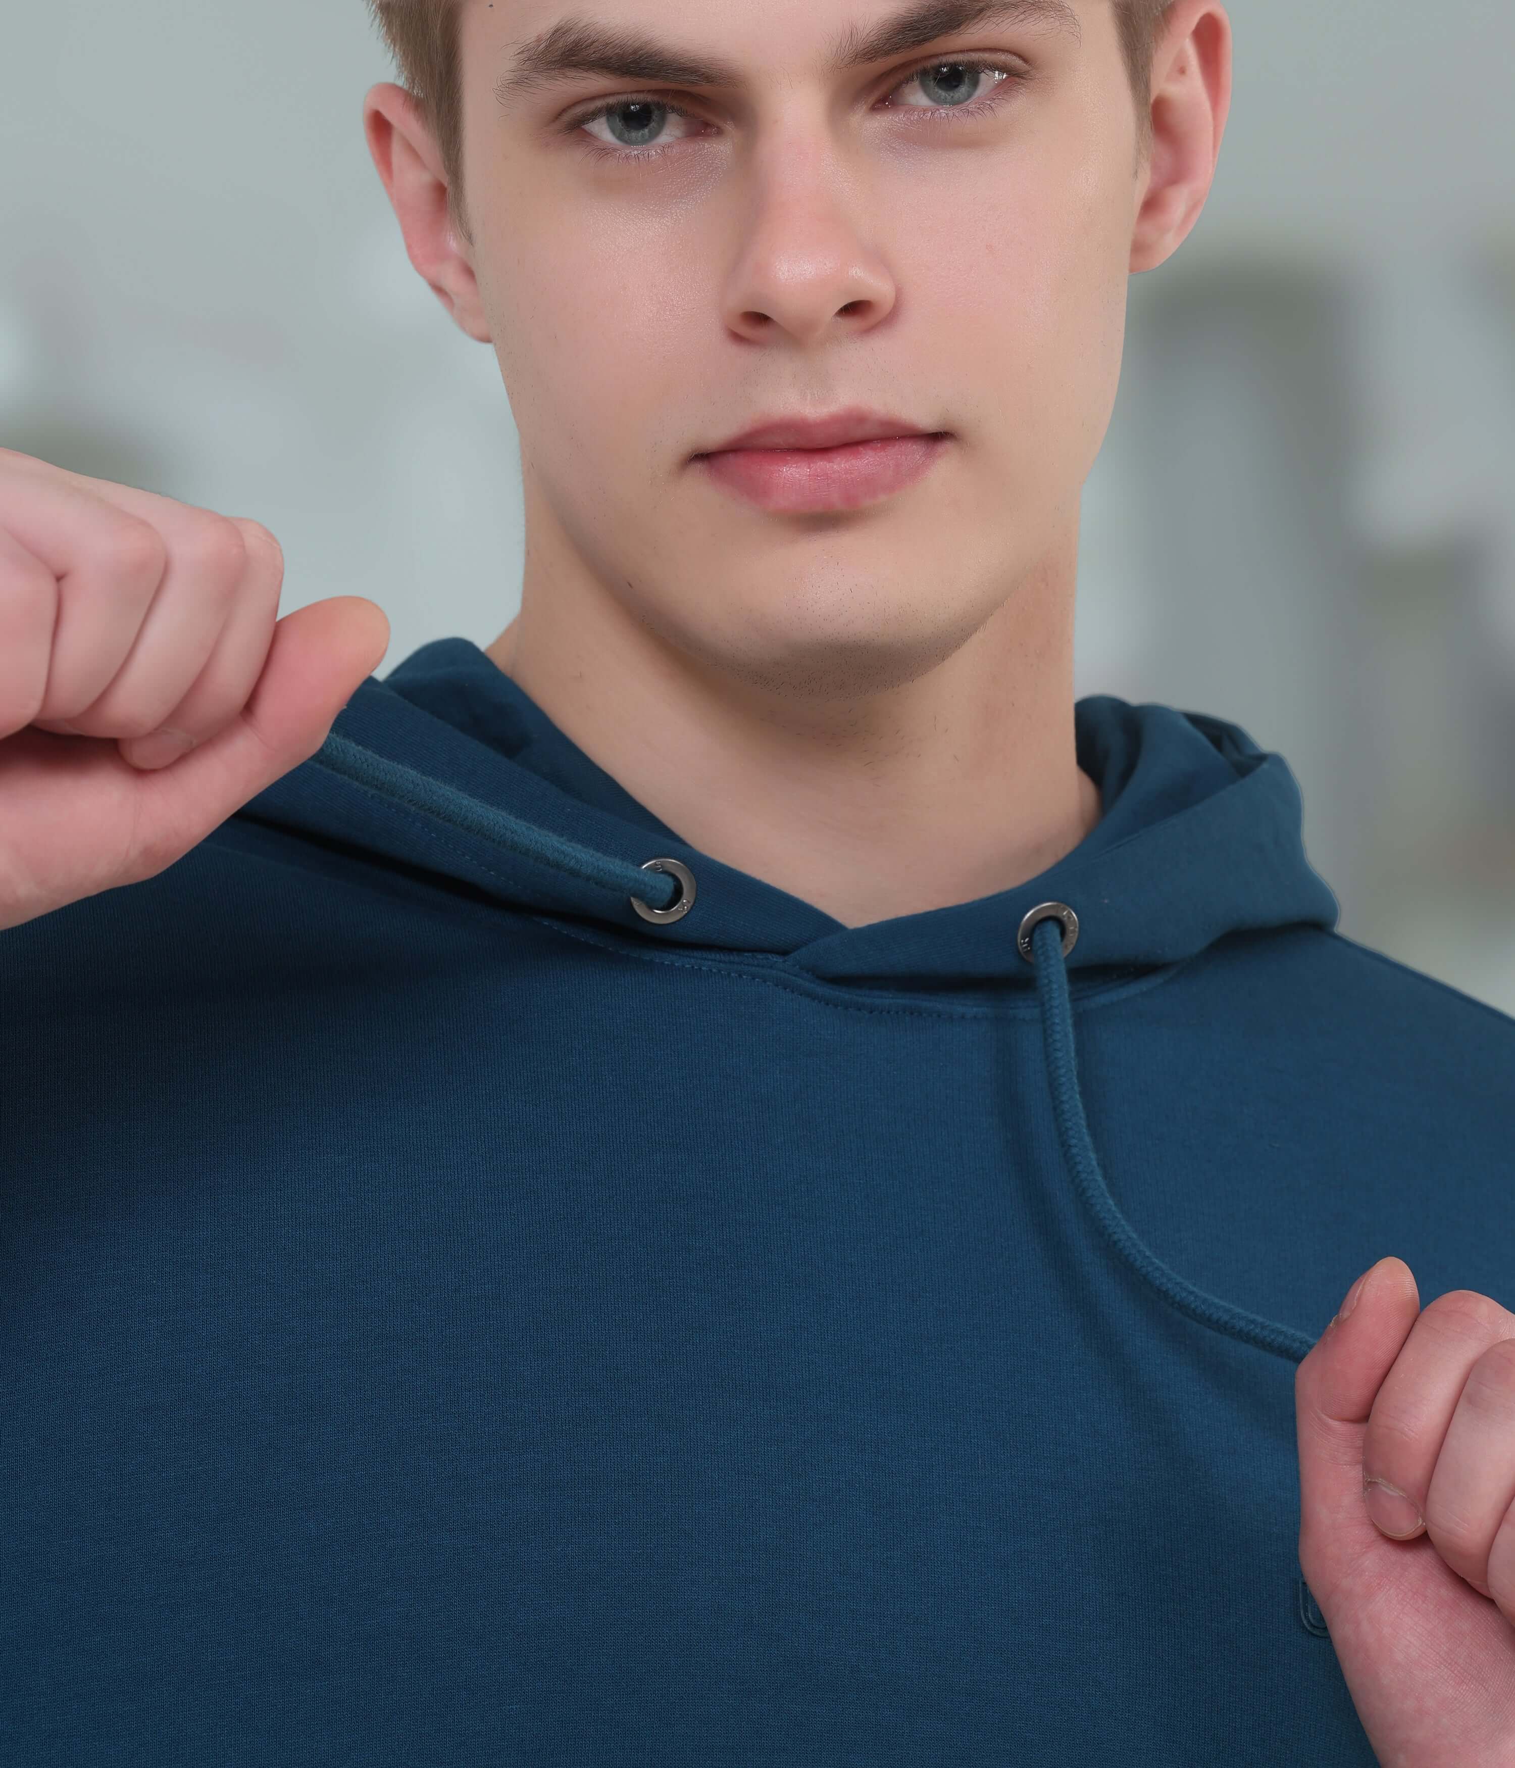
{"type": "MultiPolygon", "coordinates": [[[[1483,1597],[1494,1595],[1488,1556],[1511,1503],[1515,1340],[1501,1338],[1467,1374],[1425,1499],[1425,1528],[1435,1551],[1483,1597]]],[[[1515,1588],[1504,1589],[1501,1607],[1506,1602],[1515,1602],[1515,1588]]]]}

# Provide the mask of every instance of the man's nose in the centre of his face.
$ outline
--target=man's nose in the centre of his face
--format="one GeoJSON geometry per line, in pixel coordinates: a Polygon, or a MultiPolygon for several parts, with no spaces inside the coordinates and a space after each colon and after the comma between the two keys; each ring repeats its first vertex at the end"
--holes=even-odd
{"type": "Polygon", "coordinates": [[[863,179],[820,126],[776,124],[744,177],[741,242],[723,292],[732,332],[810,347],[872,331],[889,315],[895,278],[868,233],[863,179]]]}

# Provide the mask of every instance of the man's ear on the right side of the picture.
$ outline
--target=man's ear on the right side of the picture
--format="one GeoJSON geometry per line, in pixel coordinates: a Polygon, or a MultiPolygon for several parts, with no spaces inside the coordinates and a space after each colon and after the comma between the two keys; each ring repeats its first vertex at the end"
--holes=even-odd
{"type": "Polygon", "coordinates": [[[1230,19],[1220,0],[1176,0],[1153,53],[1151,152],[1137,189],[1131,271],[1167,262],[1199,221],[1230,110],[1230,19]]]}

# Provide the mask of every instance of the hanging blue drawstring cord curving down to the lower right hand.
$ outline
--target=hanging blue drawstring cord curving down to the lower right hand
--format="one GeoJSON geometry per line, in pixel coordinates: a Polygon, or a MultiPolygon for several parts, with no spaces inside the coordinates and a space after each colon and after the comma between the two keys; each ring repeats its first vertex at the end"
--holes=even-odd
{"type": "Polygon", "coordinates": [[[1031,928],[1029,944],[1031,964],[1036,969],[1036,994],[1041,1002],[1041,1041],[1047,1050],[1047,1077],[1052,1091],[1052,1112],[1057,1119],[1057,1140],[1062,1144],[1062,1158],[1068,1162],[1068,1170],[1073,1174],[1073,1183],[1078,1186],[1078,1195],[1089,1215],[1094,1216],[1117,1255],[1151,1284],[1169,1307],[1199,1321],[1200,1326],[1257,1345],[1259,1351],[1303,1363],[1313,1347],[1313,1338],[1306,1338],[1305,1333],[1294,1331],[1290,1326],[1276,1326],[1245,1308],[1229,1307],[1184,1282],[1147,1252],[1130,1222],[1115,1208],[1115,1199],[1100,1170],[1100,1158],[1094,1153],[1089,1119],[1084,1116],[1084,1100],[1078,1093],[1073,999],[1068,992],[1068,969],[1062,962],[1064,939],[1057,921],[1043,919],[1031,928]]]}

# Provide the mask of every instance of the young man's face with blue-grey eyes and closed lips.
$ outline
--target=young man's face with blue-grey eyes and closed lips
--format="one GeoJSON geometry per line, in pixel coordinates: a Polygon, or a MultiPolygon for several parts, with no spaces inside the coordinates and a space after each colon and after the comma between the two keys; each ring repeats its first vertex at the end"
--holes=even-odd
{"type": "Polygon", "coordinates": [[[467,0],[461,19],[470,258],[529,571],[787,693],[910,681],[1068,559],[1119,378],[1140,177],[1110,0],[965,28],[937,0],[925,42],[880,44],[902,11],[467,0]],[[566,19],[691,65],[513,88],[566,19]],[[697,458],[857,407],[939,435],[866,451],[910,483],[864,479],[861,451],[829,490],[803,463],[697,458]]]}

